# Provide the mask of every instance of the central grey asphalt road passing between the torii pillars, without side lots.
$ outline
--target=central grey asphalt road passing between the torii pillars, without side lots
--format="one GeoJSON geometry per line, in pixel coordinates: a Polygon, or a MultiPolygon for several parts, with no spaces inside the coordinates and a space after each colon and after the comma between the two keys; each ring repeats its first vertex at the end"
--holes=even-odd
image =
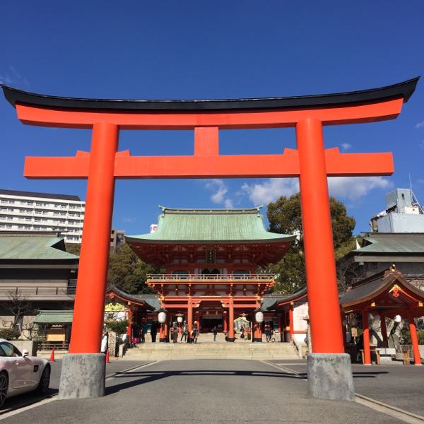
{"type": "Polygon", "coordinates": [[[354,402],[312,399],[306,389],[302,377],[255,360],[163,361],[108,379],[105,397],[52,401],[5,423],[400,423],[354,402]]]}

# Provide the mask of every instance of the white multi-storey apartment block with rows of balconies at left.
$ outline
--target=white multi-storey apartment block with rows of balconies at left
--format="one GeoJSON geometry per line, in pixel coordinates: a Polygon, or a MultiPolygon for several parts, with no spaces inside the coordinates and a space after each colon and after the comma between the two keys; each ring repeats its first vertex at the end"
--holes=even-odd
{"type": "Polygon", "coordinates": [[[78,196],[0,189],[0,230],[55,231],[81,243],[85,208],[78,196]]]}

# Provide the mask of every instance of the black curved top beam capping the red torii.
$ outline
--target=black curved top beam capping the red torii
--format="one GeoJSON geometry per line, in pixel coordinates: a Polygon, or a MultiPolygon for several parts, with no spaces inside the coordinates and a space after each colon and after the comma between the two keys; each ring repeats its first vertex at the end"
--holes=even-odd
{"type": "Polygon", "coordinates": [[[126,111],[240,111],[240,110],[284,110],[303,107],[331,107],[360,105],[403,98],[407,102],[420,77],[396,83],[391,86],[369,90],[350,91],[320,95],[301,95],[276,98],[245,98],[223,100],[110,100],[66,98],[54,95],[28,93],[1,84],[4,96],[13,107],[16,104],[65,110],[126,110],[126,111]]]}

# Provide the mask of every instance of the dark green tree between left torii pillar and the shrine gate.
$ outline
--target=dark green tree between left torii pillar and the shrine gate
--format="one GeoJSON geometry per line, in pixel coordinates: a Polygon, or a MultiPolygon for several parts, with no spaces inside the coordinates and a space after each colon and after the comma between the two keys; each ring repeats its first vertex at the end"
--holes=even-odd
{"type": "Polygon", "coordinates": [[[148,274],[153,273],[160,270],[141,261],[126,243],[110,254],[107,281],[126,293],[153,293],[146,285],[148,274]]]}

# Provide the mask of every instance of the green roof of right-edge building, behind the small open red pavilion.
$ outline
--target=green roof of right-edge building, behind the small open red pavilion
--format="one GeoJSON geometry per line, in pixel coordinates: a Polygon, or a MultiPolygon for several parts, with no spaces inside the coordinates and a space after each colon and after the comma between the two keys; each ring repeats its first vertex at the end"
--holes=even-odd
{"type": "Polygon", "coordinates": [[[355,253],[423,254],[423,233],[370,233],[355,253]]]}

